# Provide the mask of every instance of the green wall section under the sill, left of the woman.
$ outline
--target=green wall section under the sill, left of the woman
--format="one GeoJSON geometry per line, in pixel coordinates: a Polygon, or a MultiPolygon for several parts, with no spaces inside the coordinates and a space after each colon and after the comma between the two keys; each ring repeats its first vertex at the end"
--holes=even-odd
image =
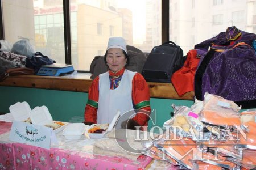
{"type": "Polygon", "coordinates": [[[0,86],[0,112],[9,113],[10,105],[27,101],[31,109],[45,105],[53,120],[69,121],[73,116],[84,116],[87,98],[83,92],[0,86]]]}

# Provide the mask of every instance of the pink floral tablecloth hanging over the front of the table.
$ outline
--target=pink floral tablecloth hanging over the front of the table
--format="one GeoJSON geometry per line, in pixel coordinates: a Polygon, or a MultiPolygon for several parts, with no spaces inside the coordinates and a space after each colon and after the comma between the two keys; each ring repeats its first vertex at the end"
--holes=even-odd
{"type": "MultiPolygon", "coordinates": [[[[0,134],[10,131],[11,123],[0,121],[0,134]]],[[[1,138],[1,137],[0,137],[1,138]]],[[[151,158],[137,161],[93,155],[60,148],[50,150],[22,143],[0,143],[0,169],[144,169],[151,158]]]]}

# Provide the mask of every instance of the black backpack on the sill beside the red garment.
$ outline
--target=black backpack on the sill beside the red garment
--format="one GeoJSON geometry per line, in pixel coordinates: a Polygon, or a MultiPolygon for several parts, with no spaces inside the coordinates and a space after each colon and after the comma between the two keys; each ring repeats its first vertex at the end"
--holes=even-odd
{"type": "Polygon", "coordinates": [[[172,41],[155,46],[148,55],[142,75],[148,82],[171,83],[172,73],[183,65],[183,50],[172,41]]]}

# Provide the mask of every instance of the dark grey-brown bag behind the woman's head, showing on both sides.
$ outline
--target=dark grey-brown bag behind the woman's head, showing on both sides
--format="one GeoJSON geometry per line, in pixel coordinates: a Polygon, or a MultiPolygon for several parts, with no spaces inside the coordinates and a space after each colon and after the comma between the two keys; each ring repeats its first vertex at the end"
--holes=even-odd
{"type": "MultiPolygon", "coordinates": [[[[144,63],[147,61],[147,56],[138,48],[127,45],[127,54],[129,56],[129,64],[126,69],[130,71],[142,72],[144,63]]],[[[104,61],[104,56],[95,56],[92,63],[90,63],[91,79],[95,79],[98,75],[108,71],[108,67],[104,61]]]]}

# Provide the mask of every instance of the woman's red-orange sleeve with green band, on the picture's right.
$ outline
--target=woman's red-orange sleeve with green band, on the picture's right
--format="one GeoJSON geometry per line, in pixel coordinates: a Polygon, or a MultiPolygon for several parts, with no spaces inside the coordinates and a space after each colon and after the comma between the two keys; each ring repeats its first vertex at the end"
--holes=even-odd
{"type": "MultiPolygon", "coordinates": [[[[136,73],[133,78],[132,98],[135,109],[144,109],[148,111],[147,113],[151,112],[149,87],[140,73],[136,73]]],[[[140,126],[147,126],[149,117],[148,114],[137,113],[133,120],[140,126]]]]}

